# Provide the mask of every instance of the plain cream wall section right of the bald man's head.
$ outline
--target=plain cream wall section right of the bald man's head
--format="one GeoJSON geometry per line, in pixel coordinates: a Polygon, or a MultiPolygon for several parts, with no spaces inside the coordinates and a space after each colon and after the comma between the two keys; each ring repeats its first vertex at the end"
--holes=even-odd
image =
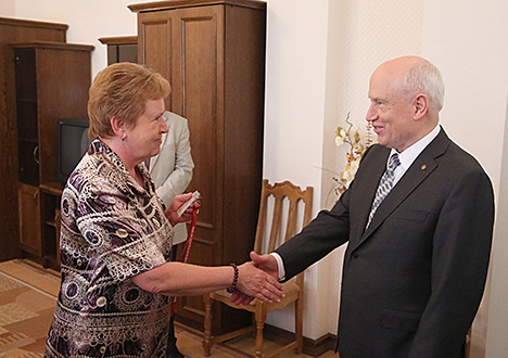
{"type": "Polygon", "coordinates": [[[423,54],[443,73],[442,123],[499,191],[508,80],[508,1],[427,0],[423,54]],[[488,5],[486,5],[488,3],[488,5]]]}

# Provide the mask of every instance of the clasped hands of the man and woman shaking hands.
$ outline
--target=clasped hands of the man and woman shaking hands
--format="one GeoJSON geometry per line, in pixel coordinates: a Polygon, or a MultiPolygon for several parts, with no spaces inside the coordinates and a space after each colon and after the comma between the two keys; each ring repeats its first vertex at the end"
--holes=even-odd
{"type": "Polygon", "coordinates": [[[279,267],[271,255],[251,252],[252,261],[239,266],[237,290],[229,301],[236,305],[249,305],[254,298],[266,303],[280,302],[284,296],[279,283],[279,267]]]}

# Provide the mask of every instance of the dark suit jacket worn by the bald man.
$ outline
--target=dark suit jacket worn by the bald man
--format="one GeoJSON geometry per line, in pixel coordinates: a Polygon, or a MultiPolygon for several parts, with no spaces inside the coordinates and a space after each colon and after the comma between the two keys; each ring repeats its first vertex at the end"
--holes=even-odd
{"type": "Polygon", "coordinates": [[[351,188],[277,250],[287,278],[348,242],[338,348],[341,358],[449,358],[478,310],[494,221],[491,181],[443,128],[378,207],[365,230],[390,149],[364,154],[351,188]]]}

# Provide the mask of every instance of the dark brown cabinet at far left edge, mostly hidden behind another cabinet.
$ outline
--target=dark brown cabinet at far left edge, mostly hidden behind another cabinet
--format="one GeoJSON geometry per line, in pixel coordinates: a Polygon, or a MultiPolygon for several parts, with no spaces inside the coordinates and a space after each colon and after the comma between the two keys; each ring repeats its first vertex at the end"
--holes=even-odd
{"type": "MultiPolygon", "coordinates": [[[[65,42],[67,28],[65,24],[0,17],[0,182],[2,183],[0,186],[0,218],[2,219],[0,261],[20,257],[20,219],[23,217],[20,218],[18,214],[25,214],[15,209],[20,200],[17,196],[17,124],[13,49],[9,43],[35,40],[65,42]]],[[[23,154],[31,155],[30,152],[23,154]]],[[[23,200],[28,200],[28,197],[33,195],[26,193],[23,200]]],[[[24,230],[26,233],[29,228],[24,230]]]]}

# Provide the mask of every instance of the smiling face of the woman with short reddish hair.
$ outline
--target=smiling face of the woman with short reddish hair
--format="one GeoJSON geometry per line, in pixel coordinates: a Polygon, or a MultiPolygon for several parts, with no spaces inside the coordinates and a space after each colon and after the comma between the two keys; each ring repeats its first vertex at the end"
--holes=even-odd
{"type": "Polygon", "coordinates": [[[149,100],[134,127],[126,129],[126,145],[136,162],[148,159],[161,151],[162,135],[168,131],[164,111],[164,100],[149,100]]]}

